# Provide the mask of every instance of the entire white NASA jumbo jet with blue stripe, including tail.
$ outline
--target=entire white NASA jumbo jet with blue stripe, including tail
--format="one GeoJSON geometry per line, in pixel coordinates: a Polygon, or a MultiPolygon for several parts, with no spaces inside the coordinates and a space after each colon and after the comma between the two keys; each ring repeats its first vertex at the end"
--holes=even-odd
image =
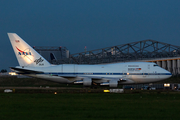
{"type": "Polygon", "coordinates": [[[91,86],[93,83],[117,87],[118,84],[152,83],[171,77],[155,63],[125,62],[98,65],[52,65],[15,33],[8,33],[20,66],[19,74],[59,83],[91,86]]]}

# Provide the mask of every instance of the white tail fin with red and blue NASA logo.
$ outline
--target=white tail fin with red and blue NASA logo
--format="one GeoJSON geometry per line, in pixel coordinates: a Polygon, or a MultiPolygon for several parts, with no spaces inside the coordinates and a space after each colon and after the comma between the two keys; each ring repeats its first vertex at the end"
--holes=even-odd
{"type": "Polygon", "coordinates": [[[20,66],[27,67],[47,67],[50,63],[38,52],[29,46],[16,33],[8,33],[12,47],[20,66]]]}

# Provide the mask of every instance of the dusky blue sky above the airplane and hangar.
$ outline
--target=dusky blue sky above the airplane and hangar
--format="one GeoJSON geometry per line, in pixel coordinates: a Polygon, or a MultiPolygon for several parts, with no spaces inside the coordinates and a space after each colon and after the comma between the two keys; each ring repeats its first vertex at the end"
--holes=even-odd
{"type": "Polygon", "coordinates": [[[0,0],[0,70],[18,66],[8,32],[70,53],[146,39],[180,46],[180,0],[0,0]]]}

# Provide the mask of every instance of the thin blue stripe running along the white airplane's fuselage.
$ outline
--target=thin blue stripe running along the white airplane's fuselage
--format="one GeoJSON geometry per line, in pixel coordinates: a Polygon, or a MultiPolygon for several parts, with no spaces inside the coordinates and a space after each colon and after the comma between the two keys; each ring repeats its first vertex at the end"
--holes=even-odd
{"type": "Polygon", "coordinates": [[[44,73],[52,75],[172,75],[171,73],[44,73]]]}

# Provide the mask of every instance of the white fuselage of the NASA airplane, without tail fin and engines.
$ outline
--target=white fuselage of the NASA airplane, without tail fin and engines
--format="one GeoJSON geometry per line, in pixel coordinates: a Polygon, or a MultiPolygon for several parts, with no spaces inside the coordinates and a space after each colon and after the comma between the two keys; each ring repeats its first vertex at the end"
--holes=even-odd
{"type": "Polygon", "coordinates": [[[123,79],[120,84],[150,83],[171,77],[171,73],[155,63],[127,62],[101,65],[62,64],[50,67],[28,68],[43,71],[44,74],[33,74],[33,77],[52,80],[60,83],[71,83],[84,77],[93,78],[96,83],[108,82],[108,78],[123,79]],[[100,79],[101,78],[101,79],[100,79]],[[104,79],[103,79],[104,78],[104,79]]]}

